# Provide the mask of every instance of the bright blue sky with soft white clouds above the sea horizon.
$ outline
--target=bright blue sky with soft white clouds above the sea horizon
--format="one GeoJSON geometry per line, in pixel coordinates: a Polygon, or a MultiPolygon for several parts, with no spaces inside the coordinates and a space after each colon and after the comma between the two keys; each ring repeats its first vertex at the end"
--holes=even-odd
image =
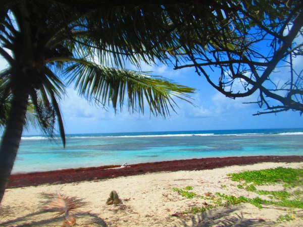
{"type": "MultiPolygon", "coordinates": [[[[300,67],[303,58],[293,61],[294,67],[300,67]]],[[[7,63],[0,59],[0,70],[7,63]]],[[[135,70],[128,65],[128,69],[135,70]]],[[[252,114],[262,109],[257,104],[243,104],[256,101],[258,94],[249,97],[230,99],[216,91],[203,76],[198,76],[194,69],[185,68],[173,70],[172,66],[143,65],[142,71],[151,71],[175,82],[193,87],[196,93],[192,95],[195,106],[175,99],[179,108],[177,113],[171,112],[169,119],[156,118],[146,111],[129,113],[125,107],[115,114],[113,108],[107,109],[89,104],[77,95],[73,86],[67,87],[67,94],[61,101],[66,134],[79,133],[116,133],[116,132],[150,132],[150,131],[187,131],[187,130],[228,130],[228,129],[271,129],[271,128],[303,128],[303,121],[297,111],[287,111],[261,116],[252,114]]],[[[209,71],[209,73],[212,73],[209,71]]],[[[277,73],[276,79],[283,80],[285,72],[277,73]]],[[[218,77],[214,73],[214,75],[218,77]]],[[[29,129],[23,135],[42,135],[39,130],[29,129]]]]}

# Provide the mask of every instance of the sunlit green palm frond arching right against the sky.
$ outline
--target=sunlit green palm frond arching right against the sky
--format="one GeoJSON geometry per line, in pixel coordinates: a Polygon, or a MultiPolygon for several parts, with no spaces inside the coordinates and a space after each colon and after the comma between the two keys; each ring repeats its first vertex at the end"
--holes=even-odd
{"type": "Polygon", "coordinates": [[[65,74],[69,79],[67,84],[75,83],[79,95],[90,102],[106,105],[111,101],[115,110],[118,104],[122,109],[127,93],[129,111],[137,108],[144,113],[144,97],[151,113],[164,118],[170,115],[170,109],[175,111],[177,105],[173,97],[191,103],[188,93],[194,93],[193,88],[173,83],[160,76],[99,66],[84,60],[71,64],[65,74]]]}

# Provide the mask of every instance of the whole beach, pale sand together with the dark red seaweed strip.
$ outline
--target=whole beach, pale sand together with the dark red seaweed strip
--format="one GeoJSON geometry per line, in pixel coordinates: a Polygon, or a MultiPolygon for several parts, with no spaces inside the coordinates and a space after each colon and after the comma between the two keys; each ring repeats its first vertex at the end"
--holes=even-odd
{"type": "MultiPolygon", "coordinates": [[[[173,190],[190,186],[191,191],[200,196],[217,192],[254,198],[260,195],[238,188],[238,182],[226,175],[278,166],[302,168],[303,156],[201,158],[124,168],[90,167],[12,175],[0,206],[0,225],[61,226],[62,216],[54,217],[39,208],[40,193],[59,192],[83,198],[88,203],[76,215],[78,226],[224,226],[228,223],[228,226],[286,226],[278,223],[277,218],[288,214],[289,210],[273,205],[259,209],[241,203],[215,207],[203,213],[186,213],[190,207],[205,206],[210,201],[206,197],[185,198],[173,190]],[[122,203],[106,205],[112,190],[118,193],[122,203]]],[[[268,187],[275,191],[282,186],[268,187]]],[[[296,218],[288,226],[302,226],[302,221],[296,218]]]]}

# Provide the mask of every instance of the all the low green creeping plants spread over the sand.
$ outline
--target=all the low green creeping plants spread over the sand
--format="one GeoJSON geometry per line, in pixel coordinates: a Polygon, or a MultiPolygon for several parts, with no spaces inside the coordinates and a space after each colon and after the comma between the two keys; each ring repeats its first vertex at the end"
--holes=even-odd
{"type": "MultiPolygon", "coordinates": [[[[244,196],[236,197],[233,195],[226,195],[223,193],[206,192],[204,195],[196,195],[196,193],[189,192],[193,188],[187,186],[183,189],[173,188],[173,191],[178,192],[181,196],[188,199],[198,198],[204,199],[207,202],[203,204],[205,206],[192,206],[188,210],[182,212],[182,214],[195,214],[204,212],[218,206],[237,205],[240,203],[250,203],[262,209],[264,205],[277,205],[287,207],[290,209],[299,208],[303,209],[303,191],[299,188],[295,191],[290,190],[294,187],[303,186],[303,169],[293,169],[278,167],[275,169],[264,169],[261,171],[247,171],[240,174],[230,174],[232,181],[241,182],[236,187],[239,189],[254,192],[259,195],[267,195],[268,199],[256,197],[247,198],[244,196]],[[281,191],[266,191],[258,190],[256,186],[266,184],[283,184],[284,190],[281,191]]],[[[221,185],[221,188],[227,188],[226,185],[221,185]]],[[[298,215],[296,215],[299,217],[298,215]]],[[[295,219],[293,214],[280,216],[277,221],[290,221],[295,219]]]]}

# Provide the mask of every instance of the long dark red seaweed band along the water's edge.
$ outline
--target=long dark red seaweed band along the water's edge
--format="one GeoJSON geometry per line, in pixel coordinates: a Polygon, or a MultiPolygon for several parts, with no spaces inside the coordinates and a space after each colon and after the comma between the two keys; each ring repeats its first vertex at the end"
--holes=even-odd
{"type": "Polygon", "coordinates": [[[303,156],[245,156],[224,158],[194,158],[187,160],[160,161],[131,164],[124,168],[107,165],[87,168],[69,168],[58,171],[33,172],[11,175],[8,188],[37,186],[42,184],[64,184],[80,181],[104,180],[116,177],[142,175],[155,172],[194,171],[231,165],[245,165],[260,162],[301,162],[303,156]]]}

